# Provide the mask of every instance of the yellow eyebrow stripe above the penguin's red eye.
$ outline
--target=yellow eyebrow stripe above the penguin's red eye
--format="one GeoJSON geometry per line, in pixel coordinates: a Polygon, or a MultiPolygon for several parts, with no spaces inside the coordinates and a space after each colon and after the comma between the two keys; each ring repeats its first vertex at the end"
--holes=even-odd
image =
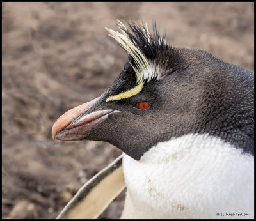
{"type": "Polygon", "coordinates": [[[136,77],[137,77],[138,85],[136,85],[134,88],[132,88],[128,91],[124,91],[118,95],[109,96],[109,98],[106,99],[106,102],[109,102],[111,100],[121,100],[121,99],[125,99],[125,98],[130,98],[131,96],[134,96],[134,95],[137,95],[138,93],[140,93],[140,91],[143,88],[144,82],[140,77],[140,73],[136,72],[136,77]]]}

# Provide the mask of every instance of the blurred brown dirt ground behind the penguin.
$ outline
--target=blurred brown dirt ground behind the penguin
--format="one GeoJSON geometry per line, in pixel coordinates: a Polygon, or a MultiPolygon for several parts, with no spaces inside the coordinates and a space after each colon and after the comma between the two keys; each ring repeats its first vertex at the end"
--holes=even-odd
{"type": "MultiPolygon", "coordinates": [[[[64,112],[99,96],[127,59],[104,27],[156,20],[173,47],[253,70],[254,3],[2,3],[2,218],[56,218],[121,154],[93,141],[52,141],[64,112]]],[[[125,193],[100,218],[119,218],[125,193]]]]}

